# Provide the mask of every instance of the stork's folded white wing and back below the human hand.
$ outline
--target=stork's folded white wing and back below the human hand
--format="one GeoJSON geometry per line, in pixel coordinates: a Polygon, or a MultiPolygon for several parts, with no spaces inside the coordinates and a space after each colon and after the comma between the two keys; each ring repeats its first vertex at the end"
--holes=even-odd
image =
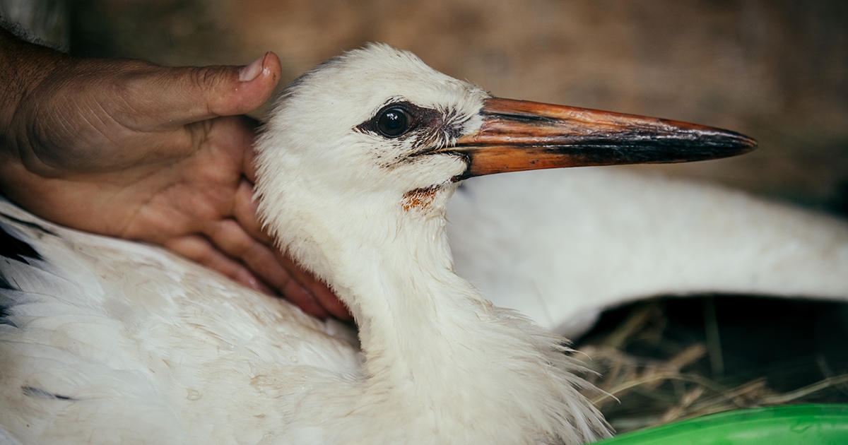
{"type": "Polygon", "coordinates": [[[164,249],[5,201],[0,229],[0,438],[259,442],[304,379],[358,378],[325,323],[164,249]]]}

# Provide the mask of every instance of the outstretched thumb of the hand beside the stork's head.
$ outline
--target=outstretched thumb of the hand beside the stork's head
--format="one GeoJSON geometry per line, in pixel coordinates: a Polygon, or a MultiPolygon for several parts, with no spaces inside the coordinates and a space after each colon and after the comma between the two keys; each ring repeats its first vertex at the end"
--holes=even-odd
{"type": "Polygon", "coordinates": [[[245,114],[271,97],[281,71],[280,59],[270,52],[245,66],[166,68],[154,74],[159,99],[145,102],[157,108],[149,115],[166,127],[245,114]]]}

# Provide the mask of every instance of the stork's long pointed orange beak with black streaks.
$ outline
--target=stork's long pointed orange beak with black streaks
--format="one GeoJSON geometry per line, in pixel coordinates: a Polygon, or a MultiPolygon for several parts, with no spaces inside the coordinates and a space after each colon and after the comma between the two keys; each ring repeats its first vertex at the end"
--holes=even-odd
{"type": "Polygon", "coordinates": [[[481,114],[479,131],[438,150],[466,157],[468,169],[457,181],[507,171],[718,159],[756,147],[734,131],[549,103],[490,98],[481,114]]]}

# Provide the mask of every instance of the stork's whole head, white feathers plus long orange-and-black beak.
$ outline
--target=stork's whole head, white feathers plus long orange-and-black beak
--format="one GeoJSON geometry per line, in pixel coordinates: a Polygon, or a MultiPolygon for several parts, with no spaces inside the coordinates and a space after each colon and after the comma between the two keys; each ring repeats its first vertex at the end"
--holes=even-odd
{"type": "Polygon", "coordinates": [[[456,183],[471,176],[714,159],[756,146],[701,125],[492,97],[383,44],[310,70],[274,109],[256,146],[260,211],[325,279],[327,256],[347,242],[340,236],[382,242],[410,220],[444,216],[456,183]]]}

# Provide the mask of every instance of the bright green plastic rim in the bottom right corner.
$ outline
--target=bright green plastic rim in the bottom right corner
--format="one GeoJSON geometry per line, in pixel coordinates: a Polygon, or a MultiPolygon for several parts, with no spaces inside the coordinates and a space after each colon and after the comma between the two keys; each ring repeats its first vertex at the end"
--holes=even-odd
{"type": "Polygon", "coordinates": [[[848,445],[848,404],[740,409],[633,431],[598,445],[848,445]]]}

